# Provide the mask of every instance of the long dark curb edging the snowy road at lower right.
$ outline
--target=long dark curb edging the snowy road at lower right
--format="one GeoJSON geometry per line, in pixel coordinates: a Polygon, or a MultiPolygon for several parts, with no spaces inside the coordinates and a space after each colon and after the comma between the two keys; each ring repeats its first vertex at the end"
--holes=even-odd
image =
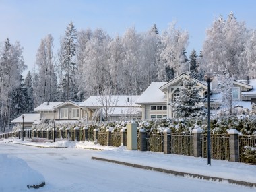
{"type": "Polygon", "coordinates": [[[98,157],[94,157],[94,156],[92,156],[92,160],[101,160],[101,161],[105,161],[105,162],[112,162],[112,163],[122,164],[122,165],[125,165],[125,166],[131,166],[131,167],[135,167],[135,168],[143,168],[143,169],[146,169],[146,170],[154,170],[154,171],[158,171],[158,172],[164,172],[164,173],[167,173],[167,174],[173,174],[174,176],[199,178],[199,179],[203,179],[203,180],[207,180],[207,181],[218,181],[218,182],[228,181],[228,183],[232,183],[232,184],[236,184],[236,185],[243,185],[243,186],[246,186],[246,187],[256,187],[256,183],[251,183],[251,182],[247,182],[247,181],[238,181],[238,180],[234,180],[234,179],[227,179],[227,178],[221,178],[221,177],[212,177],[212,176],[207,176],[207,175],[202,175],[202,174],[193,174],[193,173],[189,173],[189,172],[179,172],[179,171],[175,171],[175,170],[168,170],[168,169],[164,169],[164,168],[156,168],[156,167],[152,167],[152,166],[143,166],[143,165],[140,165],[140,164],[133,164],[133,163],[129,163],[129,162],[121,162],[121,161],[117,161],[117,160],[110,160],[110,159],[106,159],[106,158],[98,158],[98,157]]]}

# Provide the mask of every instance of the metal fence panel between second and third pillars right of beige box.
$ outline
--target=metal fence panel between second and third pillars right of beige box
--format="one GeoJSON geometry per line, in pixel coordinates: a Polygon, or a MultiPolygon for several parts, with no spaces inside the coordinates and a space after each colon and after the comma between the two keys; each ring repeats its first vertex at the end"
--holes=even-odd
{"type": "Polygon", "coordinates": [[[170,135],[170,153],[185,156],[193,156],[193,135],[170,135]]]}

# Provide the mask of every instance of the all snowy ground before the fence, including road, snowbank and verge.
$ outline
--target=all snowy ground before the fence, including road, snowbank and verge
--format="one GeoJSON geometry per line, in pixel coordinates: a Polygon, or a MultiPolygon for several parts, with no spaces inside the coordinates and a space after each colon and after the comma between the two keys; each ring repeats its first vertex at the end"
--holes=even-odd
{"type": "Polygon", "coordinates": [[[92,156],[256,183],[256,166],[236,162],[212,160],[212,166],[207,166],[205,158],[131,151],[124,146],[114,148],[90,142],[34,143],[5,139],[0,141],[0,191],[255,191],[255,188],[227,182],[175,177],[92,160],[92,156]],[[27,173],[32,183],[44,179],[46,185],[28,189],[27,177],[20,177],[27,173]]]}

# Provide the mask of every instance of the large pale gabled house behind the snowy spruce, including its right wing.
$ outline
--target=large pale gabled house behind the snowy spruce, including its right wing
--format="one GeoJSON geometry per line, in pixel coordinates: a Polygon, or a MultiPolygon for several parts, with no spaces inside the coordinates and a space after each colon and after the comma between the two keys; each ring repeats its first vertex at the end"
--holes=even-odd
{"type": "MultiPolygon", "coordinates": [[[[161,119],[163,117],[174,117],[170,104],[175,101],[175,96],[179,95],[179,89],[183,87],[183,80],[189,79],[189,75],[182,73],[178,77],[171,79],[169,82],[152,82],[150,86],[141,94],[137,100],[137,104],[142,108],[142,119],[161,119]]],[[[197,82],[199,95],[202,98],[207,97],[207,83],[197,82]]],[[[219,110],[222,107],[222,94],[218,93],[217,75],[214,75],[213,81],[210,83],[210,109],[219,110]]],[[[251,102],[255,98],[256,102],[256,80],[238,81],[234,80],[232,87],[232,99],[235,106],[251,109],[251,102]]],[[[205,107],[207,103],[205,102],[205,107]]]]}

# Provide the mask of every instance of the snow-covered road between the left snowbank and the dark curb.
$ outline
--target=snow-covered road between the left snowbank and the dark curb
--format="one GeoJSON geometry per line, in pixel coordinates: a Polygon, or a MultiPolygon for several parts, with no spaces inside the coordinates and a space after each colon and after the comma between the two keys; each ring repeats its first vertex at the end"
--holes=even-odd
{"type": "MultiPolygon", "coordinates": [[[[91,160],[92,154],[98,153],[92,150],[1,143],[0,153],[22,158],[44,176],[44,187],[28,191],[255,191],[253,188],[228,183],[174,177],[161,172],[91,160]]],[[[11,179],[9,181],[15,182],[11,179]]]]}

